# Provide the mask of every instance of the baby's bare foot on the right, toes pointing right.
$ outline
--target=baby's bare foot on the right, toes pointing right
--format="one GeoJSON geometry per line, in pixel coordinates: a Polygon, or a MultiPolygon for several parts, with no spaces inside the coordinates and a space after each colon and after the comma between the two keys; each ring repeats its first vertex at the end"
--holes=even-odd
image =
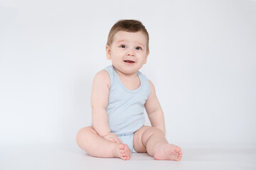
{"type": "Polygon", "coordinates": [[[181,148],[171,144],[159,145],[154,154],[154,159],[156,160],[180,161],[181,157],[181,148]]]}

